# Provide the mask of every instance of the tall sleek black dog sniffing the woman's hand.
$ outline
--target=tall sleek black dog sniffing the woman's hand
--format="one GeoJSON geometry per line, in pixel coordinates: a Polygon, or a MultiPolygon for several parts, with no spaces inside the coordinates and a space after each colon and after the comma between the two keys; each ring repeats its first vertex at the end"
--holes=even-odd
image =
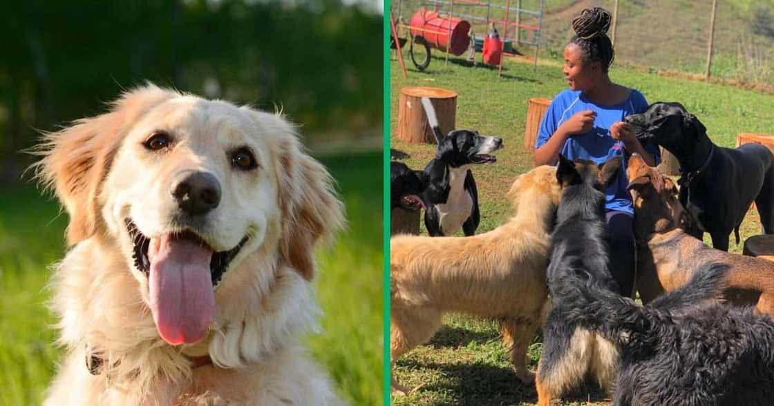
{"type": "Polygon", "coordinates": [[[700,228],[690,234],[701,239],[707,232],[713,247],[728,251],[728,235],[734,230],[739,244],[739,224],[753,200],[765,234],[774,233],[774,155],[768,148],[714,145],[679,103],[654,103],[625,121],[641,142],[656,142],[680,162],[680,203],[700,228]]]}

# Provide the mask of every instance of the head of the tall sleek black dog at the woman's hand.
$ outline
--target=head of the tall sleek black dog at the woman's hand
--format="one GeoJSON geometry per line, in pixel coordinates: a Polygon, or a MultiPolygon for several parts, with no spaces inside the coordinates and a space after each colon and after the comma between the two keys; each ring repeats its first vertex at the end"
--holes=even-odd
{"type": "Polygon", "coordinates": [[[655,142],[674,154],[691,152],[703,138],[707,128],[680,103],[653,103],[640,114],[631,114],[624,121],[640,142],[655,142]]]}

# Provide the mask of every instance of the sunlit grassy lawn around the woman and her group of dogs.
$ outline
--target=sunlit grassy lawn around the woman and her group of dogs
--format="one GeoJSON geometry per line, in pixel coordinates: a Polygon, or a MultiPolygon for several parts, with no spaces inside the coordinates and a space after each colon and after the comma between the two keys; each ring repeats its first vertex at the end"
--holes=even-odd
{"type": "MultiPolygon", "coordinates": [[[[516,176],[533,167],[532,152],[522,148],[527,101],[531,97],[553,97],[566,83],[556,60],[544,59],[546,64],[539,66],[535,74],[532,63],[506,59],[502,78],[498,79],[496,67],[471,67],[455,58],[444,63],[443,55],[433,52],[438,57],[433,58],[429,70],[421,73],[409,67],[408,79],[402,77],[398,61],[392,61],[391,145],[410,155],[404,160],[407,165],[423,168],[433,157],[435,148],[396,139],[399,90],[406,86],[430,86],[456,91],[457,128],[474,128],[482,135],[497,135],[505,145],[498,152],[495,165],[474,169],[481,206],[478,233],[482,233],[512,216],[505,192],[516,176]]],[[[735,145],[739,132],[774,132],[771,95],[660,77],[623,66],[611,69],[611,79],[642,91],[650,102],[680,101],[697,115],[713,141],[721,146],[735,145]]],[[[748,214],[740,234],[742,241],[760,234],[757,213],[748,214]]],[[[741,244],[736,246],[733,237],[731,251],[741,252],[741,244]]],[[[532,367],[536,367],[539,337],[529,353],[532,367]]],[[[394,404],[533,404],[536,401],[533,387],[524,387],[516,380],[495,324],[467,316],[445,317],[444,329],[430,343],[399,360],[396,377],[404,384],[424,386],[409,397],[393,397],[394,404]]],[[[608,404],[604,394],[593,386],[566,400],[608,404]]]]}

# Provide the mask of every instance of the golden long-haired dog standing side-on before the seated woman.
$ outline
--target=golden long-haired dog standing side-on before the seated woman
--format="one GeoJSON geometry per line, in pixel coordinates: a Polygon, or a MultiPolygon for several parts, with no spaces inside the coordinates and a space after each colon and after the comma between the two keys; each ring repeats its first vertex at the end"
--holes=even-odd
{"type": "MultiPolygon", "coordinates": [[[[517,213],[473,237],[393,237],[390,243],[392,361],[433,336],[446,312],[497,319],[516,374],[532,384],[526,348],[546,302],[550,230],[560,199],[556,169],[519,176],[508,193],[517,213]]],[[[393,377],[393,388],[405,390],[393,377]]]]}

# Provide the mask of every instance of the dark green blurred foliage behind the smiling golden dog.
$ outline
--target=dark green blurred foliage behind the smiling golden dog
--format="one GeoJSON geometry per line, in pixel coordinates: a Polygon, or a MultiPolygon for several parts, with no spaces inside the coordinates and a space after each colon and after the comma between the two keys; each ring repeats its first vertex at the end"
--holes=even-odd
{"type": "Polygon", "coordinates": [[[358,3],[5,2],[0,49],[0,179],[19,179],[37,130],[145,80],[282,108],[307,139],[382,128],[382,15],[358,3]]]}

